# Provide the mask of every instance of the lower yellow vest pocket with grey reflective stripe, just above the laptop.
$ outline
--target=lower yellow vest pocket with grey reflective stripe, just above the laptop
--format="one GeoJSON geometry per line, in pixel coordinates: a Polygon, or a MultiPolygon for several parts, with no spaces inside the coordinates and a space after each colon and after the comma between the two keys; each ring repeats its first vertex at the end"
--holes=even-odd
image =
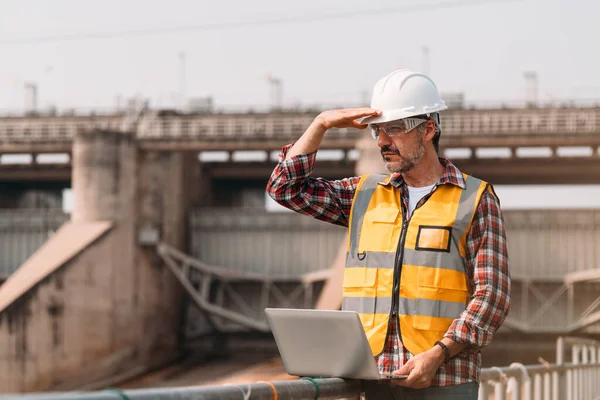
{"type": "Polygon", "coordinates": [[[373,327],[377,298],[377,268],[346,268],[342,286],[343,309],[356,311],[365,328],[373,327]]]}

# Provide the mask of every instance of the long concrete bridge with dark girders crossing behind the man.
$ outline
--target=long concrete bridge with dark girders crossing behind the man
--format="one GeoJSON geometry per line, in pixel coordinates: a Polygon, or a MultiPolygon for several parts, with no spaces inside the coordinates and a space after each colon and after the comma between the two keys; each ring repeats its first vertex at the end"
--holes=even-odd
{"type": "MultiPolygon", "coordinates": [[[[40,154],[70,153],[77,132],[100,129],[135,136],[144,151],[261,151],[262,162],[204,163],[214,179],[263,178],[273,167],[269,152],[296,140],[316,113],[139,115],[0,118],[0,154],[31,154],[26,165],[0,165],[0,181],[68,181],[71,165],[36,163],[40,154]]],[[[593,183],[600,181],[600,107],[449,110],[442,117],[441,148],[459,168],[493,183],[593,183]],[[532,151],[534,149],[534,151],[532,151]],[[573,156],[571,150],[577,150],[573,156]],[[560,168],[556,165],[560,164],[560,168]]],[[[352,174],[364,149],[356,129],[330,132],[322,149],[341,150],[335,161],[320,163],[323,177],[352,174]]],[[[375,147],[375,146],[371,146],[375,147]]],[[[230,157],[230,159],[232,159],[230,157]]]]}

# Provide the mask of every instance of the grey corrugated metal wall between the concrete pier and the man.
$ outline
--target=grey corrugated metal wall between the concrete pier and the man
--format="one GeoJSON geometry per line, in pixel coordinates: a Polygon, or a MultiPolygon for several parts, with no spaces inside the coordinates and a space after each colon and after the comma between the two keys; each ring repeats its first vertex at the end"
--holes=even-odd
{"type": "Polygon", "coordinates": [[[331,266],[345,229],[291,213],[196,210],[194,257],[223,268],[295,277],[331,266]]]}

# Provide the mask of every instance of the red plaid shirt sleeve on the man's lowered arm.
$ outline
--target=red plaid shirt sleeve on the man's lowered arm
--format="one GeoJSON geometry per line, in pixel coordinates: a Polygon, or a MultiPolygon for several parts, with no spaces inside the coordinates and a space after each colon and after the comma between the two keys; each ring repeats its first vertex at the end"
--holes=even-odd
{"type": "Polygon", "coordinates": [[[467,235],[467,268],[473,296],[454,320],[446,338],[468,345],[467,351],[487,346],[510,309],[510,273],[500,203],[488,188],[467,235]]]}

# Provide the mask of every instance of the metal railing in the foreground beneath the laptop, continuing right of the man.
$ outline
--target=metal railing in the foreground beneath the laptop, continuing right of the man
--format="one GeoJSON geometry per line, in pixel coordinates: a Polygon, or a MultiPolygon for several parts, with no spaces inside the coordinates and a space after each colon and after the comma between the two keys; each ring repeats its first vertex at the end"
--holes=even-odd
{"type": "MultiPolygon", "coordinates": [[[[559,337],[556,363],[511,364],[481,370],[479,400],[596,400],[600,399],[600,342],[559,337]],[[571,346],[572,362],[564,354],[571,346]]],[[[360,381],[340,378],[255,382],[243,385],[179,388],[106,389],[94,392],[55,392],[5,395],[0,399],[359,399],[360,381]]]]}

